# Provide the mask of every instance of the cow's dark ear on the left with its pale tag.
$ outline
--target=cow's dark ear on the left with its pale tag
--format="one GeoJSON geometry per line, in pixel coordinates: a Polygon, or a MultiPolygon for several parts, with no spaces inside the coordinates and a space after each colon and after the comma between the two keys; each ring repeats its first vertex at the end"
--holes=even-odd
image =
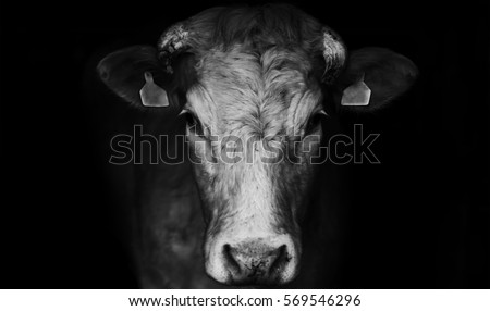
{"type": "Polygon", "coordinates": [[[169,77],[152,47],[133,46],[112,52],[99,62],[97,71],[111,90],[136,107],[169,105],[162,87],[169,77]]]}

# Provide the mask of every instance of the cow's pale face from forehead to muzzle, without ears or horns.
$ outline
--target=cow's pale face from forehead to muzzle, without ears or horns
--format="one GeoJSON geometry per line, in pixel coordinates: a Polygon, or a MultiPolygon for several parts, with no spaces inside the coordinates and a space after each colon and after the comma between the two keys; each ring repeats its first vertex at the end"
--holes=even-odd
{"type": "Polygon", "coordinates": [[[223,283],[291,281],[299,217],[320,142],[322,96],[301,51],[235,46],[200,61],[187,92],[187,136],[208,224],[209,275],[223,283]]]}

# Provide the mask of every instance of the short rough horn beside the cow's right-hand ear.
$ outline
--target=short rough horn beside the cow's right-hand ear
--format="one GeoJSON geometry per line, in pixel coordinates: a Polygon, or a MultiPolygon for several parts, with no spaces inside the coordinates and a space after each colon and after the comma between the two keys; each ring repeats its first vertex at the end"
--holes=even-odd
{"type": "Polygon", "coordinates": [[[322,51],[326,62],[323,82],[330,84],[339,75],[345,63],[346,50],[341,38],[330,28],[323,27],[322,33],[322,51]]]}

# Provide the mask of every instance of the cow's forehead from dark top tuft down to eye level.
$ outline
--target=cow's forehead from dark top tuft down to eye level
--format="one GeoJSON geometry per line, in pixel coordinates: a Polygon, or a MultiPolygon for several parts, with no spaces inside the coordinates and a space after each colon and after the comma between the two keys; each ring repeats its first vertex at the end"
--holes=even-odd
{"type": "Polygon", "coordinates": [[[217,134],[285,134],[319,103],[322,26],[297,9],[215,8],[186,29],[197,60],[187,108],[217,134]]]}

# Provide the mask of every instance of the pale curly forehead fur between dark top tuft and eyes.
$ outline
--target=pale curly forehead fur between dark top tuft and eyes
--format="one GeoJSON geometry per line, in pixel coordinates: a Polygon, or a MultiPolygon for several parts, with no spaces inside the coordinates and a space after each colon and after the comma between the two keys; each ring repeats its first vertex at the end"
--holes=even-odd
{"type": "Polygon", "coordinates": [[[274,137],[293,134],[319,109],[321,91],[301,50],[272,48],[261,55],[235,46],[211,50],[197,67],[187,108],[215,134],[274,137]]]}

